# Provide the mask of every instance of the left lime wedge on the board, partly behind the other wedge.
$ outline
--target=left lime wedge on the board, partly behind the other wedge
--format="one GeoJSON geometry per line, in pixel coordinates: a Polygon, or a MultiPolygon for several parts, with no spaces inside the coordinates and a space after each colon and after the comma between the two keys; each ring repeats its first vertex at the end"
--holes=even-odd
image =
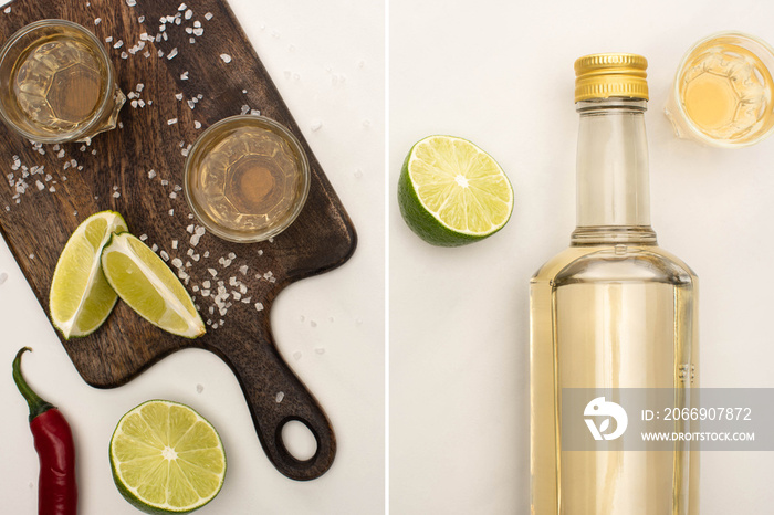
{"type": "Polygon", "coordinates": [[[102,273],[100,254],[111,234],[126,230],[121,214],[102,211],[84,220],[64,245],[51,280],[49,311],[65,339],[93,333],[113,311],[117,297],[102,273]]]}

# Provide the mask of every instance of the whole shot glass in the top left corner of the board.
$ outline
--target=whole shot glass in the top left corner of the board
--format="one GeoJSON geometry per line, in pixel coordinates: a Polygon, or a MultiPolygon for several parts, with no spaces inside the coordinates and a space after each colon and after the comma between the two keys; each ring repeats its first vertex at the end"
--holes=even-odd
{"type": "Polygon", "coordinates": [[[38,143],[115,128],[126,97],[100,40],[66,20],[31,23],[0,49],[0,118],[38,143]]]}

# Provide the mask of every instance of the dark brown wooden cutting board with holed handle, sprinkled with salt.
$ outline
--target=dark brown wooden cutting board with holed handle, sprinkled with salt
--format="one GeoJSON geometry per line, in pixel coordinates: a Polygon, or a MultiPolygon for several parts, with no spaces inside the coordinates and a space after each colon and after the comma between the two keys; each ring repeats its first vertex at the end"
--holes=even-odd
{"type": "Polygon", "coordinates": [[[355,230],[229,6],[185,3],[15,0],[0,12],[2,41],[40,19],[86,27],[105,42],[129,97],[119,127],[87,146],[40,147],[0,126],[7,179],[0,185],[0,230],[48,313],[54,266],[73,230],[97,211],[123,213],[132,232],[146,235],[172,270],[177,263],[190,276],[187,288],[208,332],[195,340],[171,336],[119,302],[93,335],[62,340],[77,371],[94,387],[114,388],[175,350],[211,350],[237,375],[272,463],[289,477],[311,480],[331,466],[335,437],[278,353],[269,314],[283,287],[344,263],[355,250],[355,230]],[[289,127],[306,150],[308,200],[273,242],[229,243],[209,233],[197,242],[198,221],[180,190],[187,149],[207,126],[253,109],[289,127]],[[222,313],[215,302],[219,286],[231,304],[222,313]],[[290,420],[314,434],[317,451],[310,460],[296,460],[283,444],[282,427],[290,420]]]}

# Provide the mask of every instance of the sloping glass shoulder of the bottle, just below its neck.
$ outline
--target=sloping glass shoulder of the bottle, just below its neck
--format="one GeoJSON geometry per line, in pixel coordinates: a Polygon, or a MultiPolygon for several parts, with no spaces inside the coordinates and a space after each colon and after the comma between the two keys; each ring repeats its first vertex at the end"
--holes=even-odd
{"type": "Polygon", "coordinates": [[[656,282],[693,287],[695,273],[682,260],[657,245],[571,246],[533,275],[553,286],[577,283],[656,282]]]}

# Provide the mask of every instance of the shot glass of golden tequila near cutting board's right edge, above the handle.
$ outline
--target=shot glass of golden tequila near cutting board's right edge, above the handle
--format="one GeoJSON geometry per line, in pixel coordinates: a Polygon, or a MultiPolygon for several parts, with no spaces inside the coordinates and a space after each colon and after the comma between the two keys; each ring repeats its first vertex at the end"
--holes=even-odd
{"type": "Polygon", "coordinates": [[[276,122],[232,116],[209,127],[186,160],[188,204],[213,234],[266,240],[299,216],[310,188],[306,154],[276,122]]]}

